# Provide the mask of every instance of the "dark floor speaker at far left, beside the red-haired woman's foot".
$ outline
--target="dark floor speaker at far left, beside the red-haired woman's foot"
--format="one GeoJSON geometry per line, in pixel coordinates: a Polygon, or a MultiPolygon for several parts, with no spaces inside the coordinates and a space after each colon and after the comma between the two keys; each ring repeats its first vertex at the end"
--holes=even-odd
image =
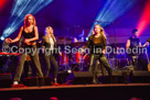
{"type": "Polygon", "coordinates": [[[11,74],[0,74],[0,88],[10,88],[12,84],[11,74]]]}

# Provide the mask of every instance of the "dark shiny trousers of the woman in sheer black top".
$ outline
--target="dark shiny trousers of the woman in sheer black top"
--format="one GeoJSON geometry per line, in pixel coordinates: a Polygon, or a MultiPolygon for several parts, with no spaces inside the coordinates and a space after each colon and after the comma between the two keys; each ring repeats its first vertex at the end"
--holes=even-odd
{"type": "Polygon", "coordinates": [[[97,74],[96,74],[97,68],[94,66],[94,64],[96,63],[97,59],[106,68],[109,76],[111,77],[113,76],[113,69],[111,69],[106,56],[105,55],[90,54],[89,71],[93,73],[93,81],[97,78],[97,74]]]}

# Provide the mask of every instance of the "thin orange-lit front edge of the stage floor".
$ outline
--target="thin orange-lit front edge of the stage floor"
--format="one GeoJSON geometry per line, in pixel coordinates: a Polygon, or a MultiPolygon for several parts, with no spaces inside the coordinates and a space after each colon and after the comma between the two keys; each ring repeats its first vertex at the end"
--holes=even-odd
{"type": "Polygon", "coordinates": [[[58,86],[36,86],[20,88],[0,88],[0,91],[19,91],[19,90],[41,90],[41,89],[65,89],[65,88],[93,88],[93,87],[142,87],[150,84],[100,84],[100,85],[58,85],[58,86]]]}

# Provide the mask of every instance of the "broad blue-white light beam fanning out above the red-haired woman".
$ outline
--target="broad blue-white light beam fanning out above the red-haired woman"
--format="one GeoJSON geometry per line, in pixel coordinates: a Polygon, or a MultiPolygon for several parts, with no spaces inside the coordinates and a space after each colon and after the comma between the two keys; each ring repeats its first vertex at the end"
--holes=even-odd
{"type": "Polygon", "coordinates": [[[53,0],[14,0],[11,16],[2,36],[8,37],[20,27],[26,14],[31,13],[34,15],[52,1],[53,0]]]}

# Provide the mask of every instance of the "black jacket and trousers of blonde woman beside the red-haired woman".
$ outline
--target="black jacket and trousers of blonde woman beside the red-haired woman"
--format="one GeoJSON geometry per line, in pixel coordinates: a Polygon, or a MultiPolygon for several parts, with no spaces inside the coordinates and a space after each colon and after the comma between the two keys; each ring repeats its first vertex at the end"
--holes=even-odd
{"type": "MultiPolygon", "coordinates": [[[[56,42],[54,41],[54,38],[53,38],[53,42],[54,42],[54,47],[56,47],[56,42]]],[[[55,49],[51,49],[51,43],[50,43],[50,41],[46,42],[45,37],[43,37],[42,46],[44,46],[45,49],[49,49],[49,52],[46,52],[44,54],[44,58],[45,58],[45,62],[46,62],[46,65],[47,65],[47,70],[45,73],[45,77],[47,77],[49,74],[50,74],[51,63],[52,63],[54,65],[54,67],[55,67],[53,77],[56,78],[57,77],[57,71],[58,71],[58,65],[57,65],[56,59],[54,57],[55,49]]]]}

